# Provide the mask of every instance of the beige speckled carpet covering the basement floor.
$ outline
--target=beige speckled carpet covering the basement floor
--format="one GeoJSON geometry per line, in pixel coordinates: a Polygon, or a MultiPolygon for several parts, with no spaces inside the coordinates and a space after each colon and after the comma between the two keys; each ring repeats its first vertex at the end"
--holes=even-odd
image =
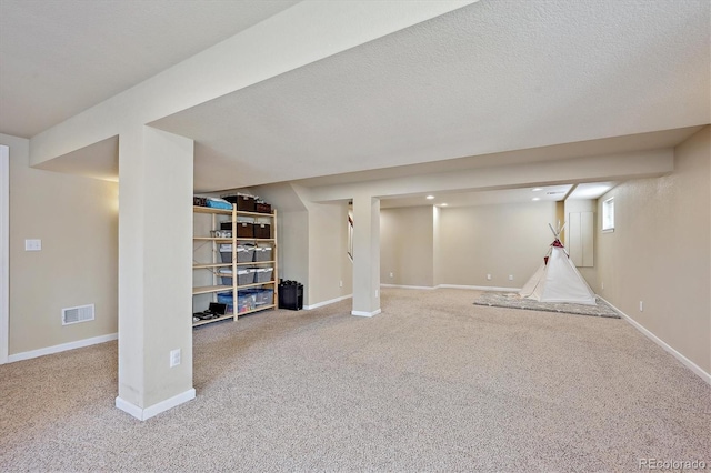
{"type": "MultiPolygon", "coordinates": [[[[0,366],[0,471],[638,471],[711,465],[711,386],[623,320],[383,289],[194,331],[196,400],[113,406],[117,344],[0,366]]],[[[673,314],[670,314],[673,316],[673,314]]]]}

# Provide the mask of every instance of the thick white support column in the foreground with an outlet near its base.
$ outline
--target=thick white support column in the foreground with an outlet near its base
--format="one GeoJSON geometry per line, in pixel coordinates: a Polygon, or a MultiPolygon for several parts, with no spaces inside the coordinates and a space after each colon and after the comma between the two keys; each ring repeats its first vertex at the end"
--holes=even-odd
{"type": "Polygon", "coordinates": [[[146,420],[192,388],[193,142],[149,127],[119,137],[119,396],[146,420]],[[171,368],[171,351],[180,364],[171,368]]]}

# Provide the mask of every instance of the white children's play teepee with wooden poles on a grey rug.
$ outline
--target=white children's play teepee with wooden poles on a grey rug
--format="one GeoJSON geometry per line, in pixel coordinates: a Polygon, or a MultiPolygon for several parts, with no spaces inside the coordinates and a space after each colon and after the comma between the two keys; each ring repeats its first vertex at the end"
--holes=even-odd
{"type": "MultiPolygon", "coordinates": [[[[541,302],[570,302],[574,304],[595,304],[595,294],[582,278],[575,264],[568,256],[560,242],[560,222],[558,231],[549,223],[555,240],[551,243],[543,263],[523,285],[519,294],[522,298],[541,302]]],[[[564,227],[564,225],[563,225],[564,227]]]]}

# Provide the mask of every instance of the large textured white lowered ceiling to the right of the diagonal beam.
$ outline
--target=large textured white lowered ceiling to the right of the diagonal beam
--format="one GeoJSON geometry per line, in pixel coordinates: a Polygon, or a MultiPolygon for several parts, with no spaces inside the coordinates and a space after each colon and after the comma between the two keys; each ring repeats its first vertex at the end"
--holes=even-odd
{"type": "Polygon", "coordinates": [[[481,1],[153,124],[198,190],[705,124],[709,6],[481,1]]]}

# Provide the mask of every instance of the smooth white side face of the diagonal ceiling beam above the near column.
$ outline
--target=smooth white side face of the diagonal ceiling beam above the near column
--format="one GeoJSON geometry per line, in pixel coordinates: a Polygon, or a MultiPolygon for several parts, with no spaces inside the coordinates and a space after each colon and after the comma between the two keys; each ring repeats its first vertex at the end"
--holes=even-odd
{"type": "Polygon", "coordinates": [[[477,0],[303,1],[30,140],[30,164],[243,89],[477,0]]]}

